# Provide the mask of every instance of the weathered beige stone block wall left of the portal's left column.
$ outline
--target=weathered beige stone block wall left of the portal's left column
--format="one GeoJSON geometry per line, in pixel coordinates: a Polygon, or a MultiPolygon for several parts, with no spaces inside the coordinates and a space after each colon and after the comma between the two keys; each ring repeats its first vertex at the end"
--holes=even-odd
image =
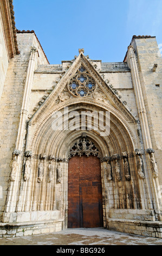
{"type": "Polygon", "coordinates": [[[0,216],[2,216],[2,212],[4,211],[5,200],[8,192],[12,153],[15,149],[17,139],[24,84],[27,75],[31,46],[35,46],[39,51],[40,57],[37,57],[37,63],[48,63],[34,33],[17,34],[17,40],[20,54],[10,60],[0,101],[0,187],[2,188],[0,198],[0,216]]]}

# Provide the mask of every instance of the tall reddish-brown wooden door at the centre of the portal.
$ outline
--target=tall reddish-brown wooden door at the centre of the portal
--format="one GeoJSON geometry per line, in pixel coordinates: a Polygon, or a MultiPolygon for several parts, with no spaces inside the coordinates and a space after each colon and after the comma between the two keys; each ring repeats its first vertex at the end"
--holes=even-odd
{"type": "Polygon", "coordinates": [[[75,156],[68,170],[68,228],[103,227],[98,157],[75,156]]]}

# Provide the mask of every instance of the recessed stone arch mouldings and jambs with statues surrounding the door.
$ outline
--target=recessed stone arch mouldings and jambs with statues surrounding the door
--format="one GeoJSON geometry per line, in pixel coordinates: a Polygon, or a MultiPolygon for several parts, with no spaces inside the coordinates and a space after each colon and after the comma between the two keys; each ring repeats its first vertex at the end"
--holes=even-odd
{"type": "MultiPolygon", "coordinates": [[[[92,126],[95,122],[96,120],[92,118],[92,126]]],[[[101,102],[94,104],[89,99],[77,99],[77,102],[69,100],[66,105],[60,103],[55,108],[51,106],[39,122],[36,124],[31,122],[28,127],[25,151],[32,154],[24,157],[24,162],[30,160],[31,173],[26,181],[22,177],[24,185],[16,210],[18,212],[42,211],[45,215],[46,212],[57,211],[59,212],[58,220],[61,219],[63,226],[67,227],[69,153],[74,144],[84,136],[96,146],[100,153],[98,157],[101,162],[105,227],[115,210],[122,209],[126,215],[127,211],[147,209],[147,198],[143,193],[145,184],[139,176],[138,158],[135,154],[135,148],[139,145],[136,126],[135,122],[128,123],[112,106],[101,104],[101,102]],[[73,117],[67,119],[65,107],[68,107],[69,113],[77,112],[80,117],[82,113],[88,111],[102,112],[103,125],[106,120],[105,113],[108,111],[110,113],[109,135],[101,136],[99,130],[88,130],[87,119],[85,130],[81,130],[81,118],[76,120],[75,127],[70,126],[70,122],[73,123],[73,117]],[[58,111],[61,115],[54,115],[58,111]],[[54,130],[56,123],[60,125],[58,127],[60,130],[54,130]],[[66,130],[63,129],[64,127],[66,130]]]]}

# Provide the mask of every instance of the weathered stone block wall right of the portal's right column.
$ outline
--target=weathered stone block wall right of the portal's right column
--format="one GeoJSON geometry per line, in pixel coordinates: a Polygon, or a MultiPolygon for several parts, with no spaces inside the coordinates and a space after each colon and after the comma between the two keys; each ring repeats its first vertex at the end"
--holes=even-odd
{"type": "Polygon", "coordinates": [[[162,188],[162,58],[155,37],[135,39],[132,44],[137,51],[142,94],[162,188]],[[155,72],[152,71],[154,64],[158,64],[155,72]]]}

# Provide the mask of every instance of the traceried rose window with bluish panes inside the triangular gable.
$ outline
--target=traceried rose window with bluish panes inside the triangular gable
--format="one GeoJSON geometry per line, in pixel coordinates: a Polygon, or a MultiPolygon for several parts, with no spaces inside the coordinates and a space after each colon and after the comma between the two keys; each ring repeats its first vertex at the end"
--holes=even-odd
{"type": "Polygon", "coordinates": [[[81,66],[72,80],[68,83],[70,93],[75,96],[85,97],[94,92],[96,88],[94,79],[87,73],[87,70],[81,66]]]}

